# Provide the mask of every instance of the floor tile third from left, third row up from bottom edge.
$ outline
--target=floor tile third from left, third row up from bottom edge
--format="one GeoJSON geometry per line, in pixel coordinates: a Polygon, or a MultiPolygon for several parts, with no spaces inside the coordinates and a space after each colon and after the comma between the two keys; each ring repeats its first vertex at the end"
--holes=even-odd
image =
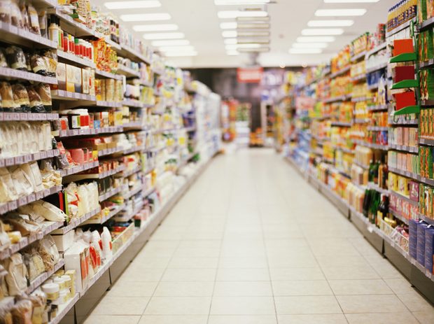
{"type": "Polygon", "coordinates": [[[269,281],[217,281],[214,296],[272,296],[269,281]]]}

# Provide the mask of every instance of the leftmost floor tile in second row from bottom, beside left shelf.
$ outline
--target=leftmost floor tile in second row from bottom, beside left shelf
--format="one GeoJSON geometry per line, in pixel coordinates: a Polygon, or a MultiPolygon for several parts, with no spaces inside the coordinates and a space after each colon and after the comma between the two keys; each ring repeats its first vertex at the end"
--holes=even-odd
{"type": "Polygon", "coordinates": [[[141,315],[148,302],[149,297],[104,296],[92,311],[92,315],[141,315]]]}

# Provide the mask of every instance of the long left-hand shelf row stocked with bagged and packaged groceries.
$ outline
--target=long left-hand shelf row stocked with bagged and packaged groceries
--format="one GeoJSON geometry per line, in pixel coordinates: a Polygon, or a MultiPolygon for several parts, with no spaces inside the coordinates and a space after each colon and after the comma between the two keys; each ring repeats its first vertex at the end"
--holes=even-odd
{"type": "Polygon", "coordinates": [[[0,317],[59,323],[220,150],[221,99],[92,1],[0,8],[0,317]]]}

